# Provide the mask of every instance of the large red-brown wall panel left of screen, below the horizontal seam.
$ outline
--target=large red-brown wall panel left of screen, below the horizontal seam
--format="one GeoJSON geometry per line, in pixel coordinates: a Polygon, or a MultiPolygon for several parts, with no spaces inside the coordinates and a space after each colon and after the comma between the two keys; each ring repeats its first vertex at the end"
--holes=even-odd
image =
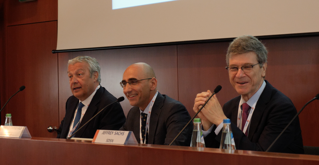
{"type": "Polygon", "coordinates": [[[54,137],[46,128],[58,124],[57,21],[8,27],[8,113],[15,126],[27,126],[32,136],[54,137]]]}

